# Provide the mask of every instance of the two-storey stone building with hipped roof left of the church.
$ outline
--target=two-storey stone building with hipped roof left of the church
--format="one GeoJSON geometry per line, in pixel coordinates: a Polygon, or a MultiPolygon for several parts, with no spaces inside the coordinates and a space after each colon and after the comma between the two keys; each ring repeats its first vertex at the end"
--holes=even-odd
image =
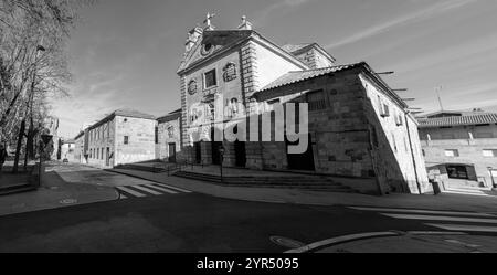
{"type": "Polygon", "coordinates": [[[76,142],[87,165],[112,168],[155,160],[155,129],[154,116],[119,109],[88,127],[76,142]]]}

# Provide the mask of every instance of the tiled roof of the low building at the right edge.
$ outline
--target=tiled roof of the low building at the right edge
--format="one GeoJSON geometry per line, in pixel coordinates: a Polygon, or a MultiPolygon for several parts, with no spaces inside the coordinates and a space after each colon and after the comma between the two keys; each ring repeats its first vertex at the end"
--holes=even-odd
{"type": "Polygon", "coordinates": [[[497,124],[497,114],[478,113],[475,115],[421,118],[420,128],[450,127],[450,126],[469,126],[482,124],[497,124]]]}

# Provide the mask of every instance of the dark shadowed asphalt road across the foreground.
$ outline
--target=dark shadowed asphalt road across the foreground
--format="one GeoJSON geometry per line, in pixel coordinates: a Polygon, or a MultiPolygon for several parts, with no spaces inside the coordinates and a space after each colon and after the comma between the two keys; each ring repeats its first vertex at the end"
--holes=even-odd
{"type": "Polygon", "coordinates": [[[374,231],[433,230],[417,221],[332,207],[177,194],[0,218],[0,252],[268,252],[374,231]]]}

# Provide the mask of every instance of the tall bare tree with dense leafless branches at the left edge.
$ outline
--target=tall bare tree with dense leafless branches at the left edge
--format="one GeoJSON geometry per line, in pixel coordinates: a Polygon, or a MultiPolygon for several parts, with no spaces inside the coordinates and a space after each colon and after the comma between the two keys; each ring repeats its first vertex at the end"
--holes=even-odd
{"type": "Polygon", "coordinates": [[[27,158],[34,155],[47,95],[66,95],[71,73],[65,42],[75,25],[77,9],[92,2],[0,0],[0,139],[17,138],[14,172],[24,137],[24,166],[27,158]]]}

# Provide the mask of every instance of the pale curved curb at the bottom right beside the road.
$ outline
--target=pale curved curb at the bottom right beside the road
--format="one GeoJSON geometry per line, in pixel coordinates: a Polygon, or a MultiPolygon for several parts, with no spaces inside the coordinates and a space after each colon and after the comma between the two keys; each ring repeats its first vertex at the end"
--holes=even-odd
{"type": "Polygon", "coordinates": [[[361,233],[361,234],[345,235],[345,236],[328,239],[325,241],[308,244],[300,248],[286,251],[285,254],[311,253],[311,252],[315,252],[318,250],[324,250],[324,248],[328,248],[328,247],[332,247],[332,246],[346,244],[346,243],[353,243],[353,242],[363,241],[363,240],[389,237],[389,236],[403,236],[403,235],[467,235],[467,233],[450,232],[450,231],[447,231],[447,232],[436,232],[436,231],[370,232],[370,233],[361,233]]]}

